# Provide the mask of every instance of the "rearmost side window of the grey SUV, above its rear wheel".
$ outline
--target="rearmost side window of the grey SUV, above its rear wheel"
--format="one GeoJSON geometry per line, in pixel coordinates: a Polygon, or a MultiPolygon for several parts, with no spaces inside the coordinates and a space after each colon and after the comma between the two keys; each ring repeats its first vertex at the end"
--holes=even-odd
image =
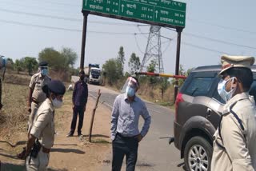
{"type": "Polygon", "coordinates": [[[214,78],[193,78],[184,93],[191,96],[210,96],[210,86],[214,78]]]}

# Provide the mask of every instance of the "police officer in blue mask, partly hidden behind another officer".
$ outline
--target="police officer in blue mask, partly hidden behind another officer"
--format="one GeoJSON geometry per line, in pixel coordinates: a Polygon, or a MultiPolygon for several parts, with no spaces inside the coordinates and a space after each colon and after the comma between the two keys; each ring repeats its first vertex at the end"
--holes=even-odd
{"type": "Polygon", "coordinates": [[[31,126],[33,125],[34,116],[38,111],[39,105],[41,105],[42,101],[46,100],[46,94],[42,92],[42,86],[47,85],[50,82],[50,77],[48,77],[47,74],[48,63],[40,62],[39,72],[34,74],[30,81],[30,92],[28,100],[30,117],[28,132],[30,132],[31,126]]]}

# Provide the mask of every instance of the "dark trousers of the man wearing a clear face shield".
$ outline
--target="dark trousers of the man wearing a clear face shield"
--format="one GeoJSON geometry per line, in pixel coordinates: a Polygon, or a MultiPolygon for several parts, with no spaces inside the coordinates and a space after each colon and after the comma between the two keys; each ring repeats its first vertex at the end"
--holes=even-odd
{"type": "Polygon", "coordinates": [[[138,157],[138,140],[135,137],[122,137],[117,133],[112,142],[112,171],[120,171],[126,155],[126,171],[134,171],[138,157]]]}

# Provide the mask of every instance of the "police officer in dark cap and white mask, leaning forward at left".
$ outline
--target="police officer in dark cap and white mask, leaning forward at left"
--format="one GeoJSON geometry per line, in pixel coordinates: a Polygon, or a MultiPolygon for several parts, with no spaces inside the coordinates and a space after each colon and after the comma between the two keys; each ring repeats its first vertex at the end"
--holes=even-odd
{"type": "Polygon", "coordinates": [[[46,170],[50,148],[54,145],[54,109],[62,106],[66,88],[62,82],[52,80],[43,91],[47,98],[38,109],[26,145],[27,170],[46,170]]]}

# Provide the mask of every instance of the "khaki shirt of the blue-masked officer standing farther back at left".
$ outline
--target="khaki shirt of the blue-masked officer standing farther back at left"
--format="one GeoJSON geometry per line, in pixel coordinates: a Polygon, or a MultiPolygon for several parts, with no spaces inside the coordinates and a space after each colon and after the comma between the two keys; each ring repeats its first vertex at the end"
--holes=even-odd
{"type": "Polygon", "coordinates": [[[43,85],[47,85],[50,82],[50,77],[47,75],[42,77],[42,74],[34,74],[30,81],[30,88],[33,89],[32,97],[41,103],[46,100],[46,93],[43,93],[43,85]]]}

